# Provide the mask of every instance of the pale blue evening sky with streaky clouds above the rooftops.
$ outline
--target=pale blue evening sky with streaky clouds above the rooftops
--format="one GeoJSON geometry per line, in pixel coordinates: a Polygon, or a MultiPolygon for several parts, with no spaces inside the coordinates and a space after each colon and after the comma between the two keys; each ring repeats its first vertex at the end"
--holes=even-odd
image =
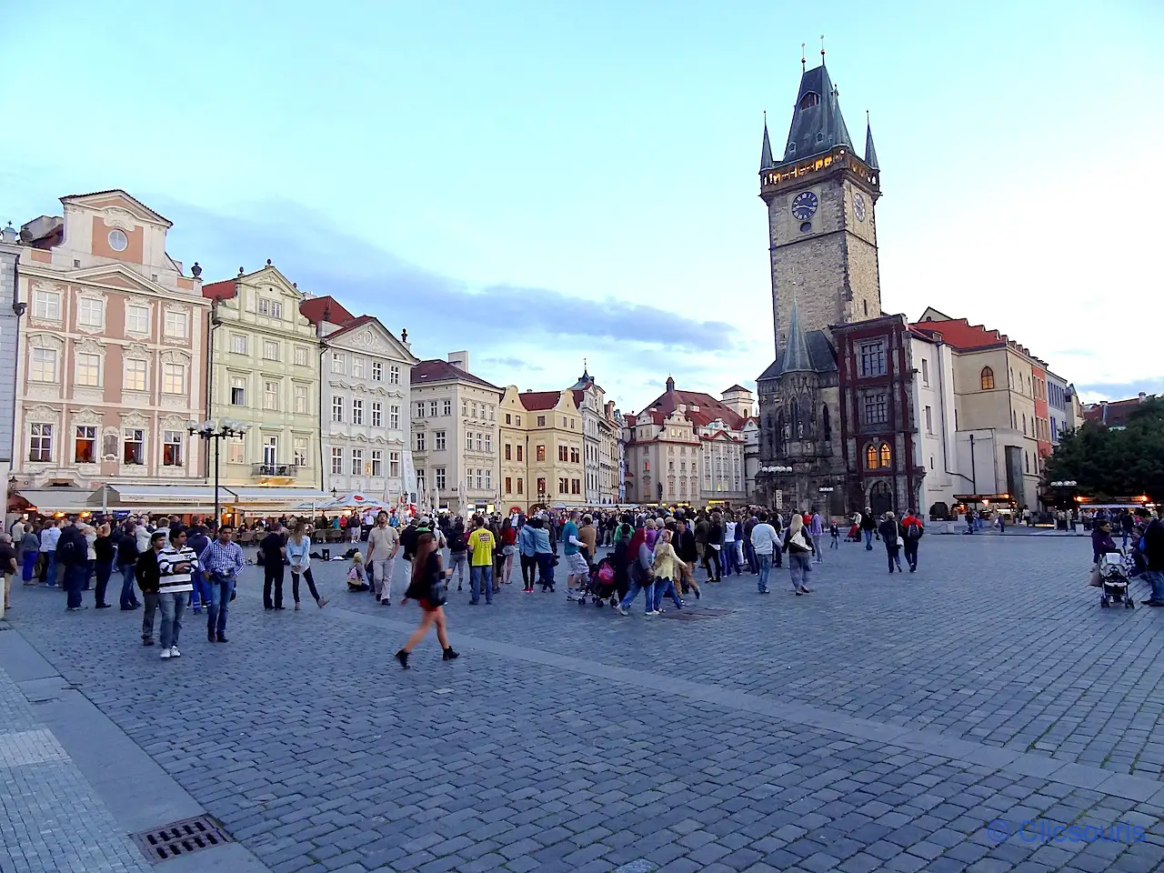
{"type": "Polygon", "coordinates": [[[1164,392],[1164,5],[938,8],[26,5],[0,220],[121,187],[205,281],[270,257],[496,384],[718,396],[774,357],[762,113],[780,151],[823,34],[876,141],[882,308],[998,328],[1086,400],[1164,392]]]}

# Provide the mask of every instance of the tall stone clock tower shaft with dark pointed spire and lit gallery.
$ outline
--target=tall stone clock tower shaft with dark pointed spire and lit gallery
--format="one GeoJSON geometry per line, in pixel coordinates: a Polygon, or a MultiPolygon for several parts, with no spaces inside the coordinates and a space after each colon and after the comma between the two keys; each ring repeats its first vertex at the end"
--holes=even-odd
{"type": "Polygon", "coordinates": [[[865,157],[858,157],[822,50],[821,65],[801,74],[780,157],[764,126],[760,197],[768,207],[778,357],[788,342],[794,300],[802,331],[880,317],[880,196],[873,134],[866,122],[865,157]]]}

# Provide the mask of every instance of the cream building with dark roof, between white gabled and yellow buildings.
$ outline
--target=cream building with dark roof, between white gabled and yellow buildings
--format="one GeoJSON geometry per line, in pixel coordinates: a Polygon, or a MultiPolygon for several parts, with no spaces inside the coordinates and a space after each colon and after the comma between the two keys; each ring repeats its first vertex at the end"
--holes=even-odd
{"type": "MultiPolygon", "coordinates": [[[[504,390],[469,371],[469,353],[412,368],[412,494],[456,513],[499,505],[499,404],[504,390]]],[[[406,471],[407,477],[407,471],[406,471]]]]}

